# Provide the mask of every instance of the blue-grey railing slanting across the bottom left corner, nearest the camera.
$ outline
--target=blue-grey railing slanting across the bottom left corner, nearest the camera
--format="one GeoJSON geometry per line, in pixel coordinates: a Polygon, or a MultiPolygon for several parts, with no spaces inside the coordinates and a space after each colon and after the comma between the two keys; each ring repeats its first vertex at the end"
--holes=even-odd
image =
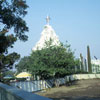
{"type": "Polygon", "coordinates": [[[51,99],[0,83],[0,100],[51,100],[51,99]]]}

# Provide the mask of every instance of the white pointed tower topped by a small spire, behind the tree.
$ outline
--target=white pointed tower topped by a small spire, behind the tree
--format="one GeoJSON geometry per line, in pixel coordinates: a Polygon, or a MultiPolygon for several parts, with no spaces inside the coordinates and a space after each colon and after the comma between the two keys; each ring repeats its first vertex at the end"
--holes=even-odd
{"type": "Polygon", "coordinates": [[[41,50],[47,46],[46,43],[51,42],[51,46],[59,46],[60,41],[58,36],[56,35],[55,31],[53,30],[52,26],[49,25],[50,17],[47,16],[46,18],[47,24],[44,26],[44,29],[41,33],[40,40],[36,43],[35,47],[32,48],[33,51],[41,50]]]}

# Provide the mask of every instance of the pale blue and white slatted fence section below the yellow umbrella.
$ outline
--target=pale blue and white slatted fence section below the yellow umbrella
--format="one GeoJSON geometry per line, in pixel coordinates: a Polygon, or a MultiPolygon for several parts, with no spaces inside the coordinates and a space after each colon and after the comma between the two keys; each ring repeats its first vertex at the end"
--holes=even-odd
{"type": "Polygon", "coordinates": [[[49,85],[44,80],[13,82],[10,83],[10,85],[18,87],[28,92],[35,92],[49,88],[49,85]]]}

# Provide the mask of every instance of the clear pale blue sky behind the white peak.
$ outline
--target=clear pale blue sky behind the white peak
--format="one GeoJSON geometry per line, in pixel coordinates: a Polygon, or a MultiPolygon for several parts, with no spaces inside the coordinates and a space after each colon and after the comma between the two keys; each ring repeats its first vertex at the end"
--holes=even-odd
{"type": "Polygon", "coordinates": [[[28,41],[18,40],[9,52],[29,56],[49,15],[50,25],[60,41],[68,41],[76,58],[80,53],[86,58],[89,45],[91,58],[100,59],[100,0],[27,0],[27,4],[28,14],[24,19],[29,27],[28,41]]]}

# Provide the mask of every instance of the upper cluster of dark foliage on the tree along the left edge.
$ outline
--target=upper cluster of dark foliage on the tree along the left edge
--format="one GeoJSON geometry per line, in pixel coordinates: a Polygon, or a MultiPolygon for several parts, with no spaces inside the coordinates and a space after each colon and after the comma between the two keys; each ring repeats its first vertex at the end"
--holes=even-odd
{"type": "Polygon", "coordinates": [[[2,29],[14,29],[14,33],[21,40],[27,40],[24,34],[28,31],[23,17],[27,14],[27,4],[25,0],[2,0],[0,1],[0,23],[2,29]]]}

